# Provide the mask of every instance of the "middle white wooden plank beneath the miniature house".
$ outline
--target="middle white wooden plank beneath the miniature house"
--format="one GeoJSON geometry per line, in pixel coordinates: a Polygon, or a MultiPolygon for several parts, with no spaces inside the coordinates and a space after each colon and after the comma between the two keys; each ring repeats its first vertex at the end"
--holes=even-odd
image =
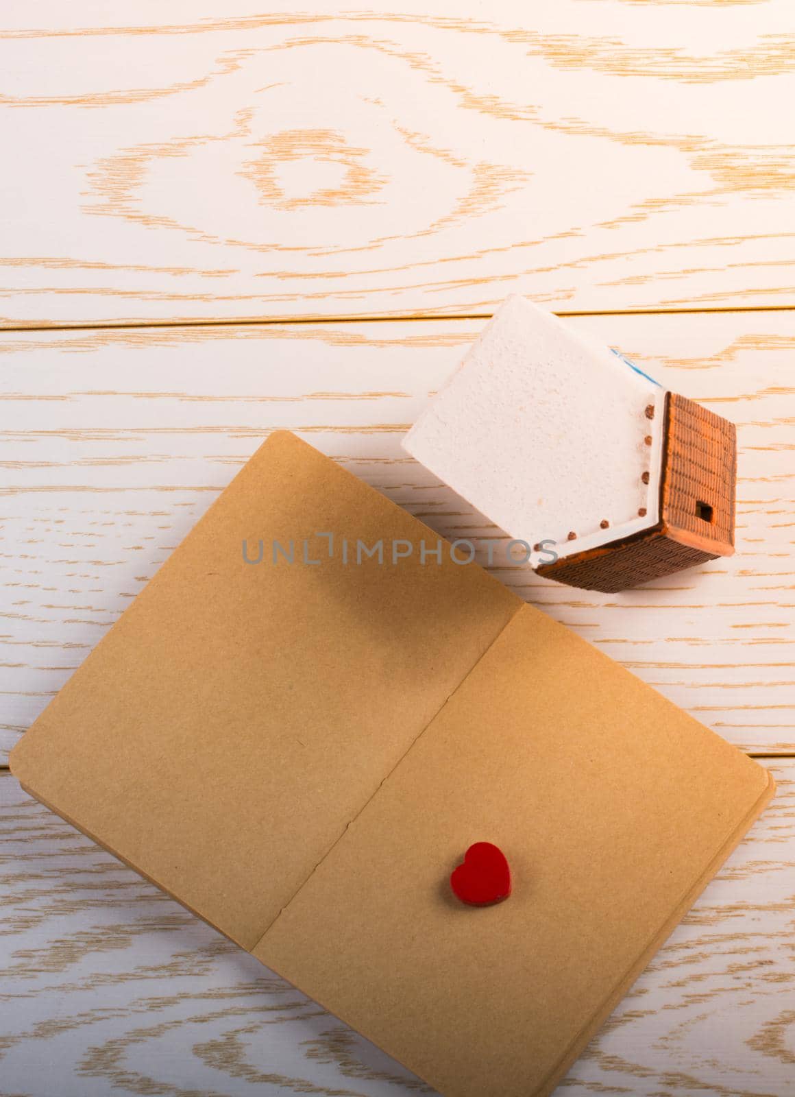
{"type": "MultiPolygon", "coordinates": [[[[738,551],[618,596],[521,568],[497,574],[730,740],[795,751],[795,315],[571,323],[737,422],[738,551]]],[[[399,446],[479,327],[0,340],[2,744],[15,742],[273,428],[297,431],[443,534],[498,538],[399,446]]]]}

